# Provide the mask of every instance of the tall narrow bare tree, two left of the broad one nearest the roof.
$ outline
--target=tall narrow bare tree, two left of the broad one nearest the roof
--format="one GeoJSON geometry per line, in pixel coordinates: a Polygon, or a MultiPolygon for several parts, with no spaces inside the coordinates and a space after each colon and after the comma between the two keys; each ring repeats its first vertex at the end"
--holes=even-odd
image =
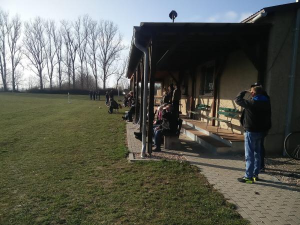
{"type": "Polygon", "coordinates": [[[78,43],[78,56],[80,61],[80,81],[81,81],[81,89],[83,89],[83,62],[85,58],[85,51],[86,51],[86,43],[87,43],[87,36],[88,36],[88,23],[90,19],[88,15],[84,15],[81,19],[79,16],[78,19],[75,21],[75,36],[78,43]]]}

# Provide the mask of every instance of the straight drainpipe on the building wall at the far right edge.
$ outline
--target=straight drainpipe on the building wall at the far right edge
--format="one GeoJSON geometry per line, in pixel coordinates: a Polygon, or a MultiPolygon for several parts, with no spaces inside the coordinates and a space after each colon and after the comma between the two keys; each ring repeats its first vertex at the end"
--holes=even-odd
{"type": "MultiPolygon", "coordinates": [[[[290,133],[292,101],[293,101],[293,92],[294,92],[294,84],[295,84],[294,81],[295,81],[295,73],[296,73],[298,42],[299,42],[299,28],[300,28],[300,8],[297,9],[296,27],[294,29],[294,35],[293,35],[290,75],[288,76],[289,81],[288,81],[287,109],[286,109],[286,117],[285,117],[286,126],[285,126],[284,136],[287,136],[287,134],[290,133]]],[[[283,151],[283,155],[285,155],[284,151],[283,151]]]]}

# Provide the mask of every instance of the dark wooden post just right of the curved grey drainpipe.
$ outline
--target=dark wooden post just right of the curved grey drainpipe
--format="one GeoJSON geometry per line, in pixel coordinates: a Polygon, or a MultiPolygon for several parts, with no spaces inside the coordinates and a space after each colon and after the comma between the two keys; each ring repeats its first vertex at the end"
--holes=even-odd
{"type": "Polygon", "coordinates": [[[154,120],[154,83],[156,71],[156,41],[155,36],[152,36],[151,55],[150,55],[150,87],[149,87],[149,105],[148,105],[148,154],[152,152],[152,128],[154,120]]]}

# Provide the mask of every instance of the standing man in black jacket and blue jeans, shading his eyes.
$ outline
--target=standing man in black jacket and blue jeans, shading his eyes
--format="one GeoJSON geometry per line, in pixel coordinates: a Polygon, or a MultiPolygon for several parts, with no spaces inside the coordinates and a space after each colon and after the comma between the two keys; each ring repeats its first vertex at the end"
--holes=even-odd
{"type": "Polygon", "coordinates": [[[240,182],[253,183],[258,180],[260,169],[260,141],[271,127],[271,105],[260,86],[250,89],[251,99],[244,99],[247,90],[235,97],[235,103],[244,108],[240,123],[244,127],[246,171],[240,182]]]}

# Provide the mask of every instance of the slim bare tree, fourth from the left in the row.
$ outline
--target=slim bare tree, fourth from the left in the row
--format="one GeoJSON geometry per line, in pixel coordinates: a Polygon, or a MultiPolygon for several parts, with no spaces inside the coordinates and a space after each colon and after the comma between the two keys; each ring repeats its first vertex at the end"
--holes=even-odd
{"type": "Polygon", "coordinates": [[[44,46],[47,72],[50,82],[50,89],[52,89],[52,76],[54,71],[54,66],[57,64],[57,60],[54,58],[56,55],[55,41],[52,33],[55,32],[55,22],[54,20],[46,20],[44,23],[46,32],[46,41],[44,46]]]}

